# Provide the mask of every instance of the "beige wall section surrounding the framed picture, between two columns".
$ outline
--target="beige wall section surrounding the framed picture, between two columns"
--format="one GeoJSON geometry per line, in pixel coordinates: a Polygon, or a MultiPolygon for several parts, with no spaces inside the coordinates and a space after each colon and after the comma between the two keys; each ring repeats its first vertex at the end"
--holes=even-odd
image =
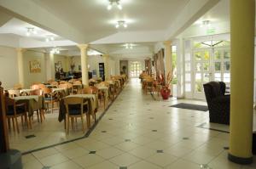
{"type": "Polygon", "coordinates": [[[45,69],[45,56],[44,53],[35,51],[26,51],[23,54],[23,66],[24,66],[24,86],[30,87],[33,82],[46,82],[46,69],[45,69]],[[30,72],[30,61],[38,60],[41,63],[41,72],[30,72]]]}

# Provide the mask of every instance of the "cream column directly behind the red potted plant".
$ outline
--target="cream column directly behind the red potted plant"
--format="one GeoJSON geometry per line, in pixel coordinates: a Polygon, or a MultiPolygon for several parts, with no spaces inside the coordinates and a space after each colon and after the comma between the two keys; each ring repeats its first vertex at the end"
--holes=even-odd
{"type": "MultiPolygon", "coordinates": [[[[170,41],[164,42],[164,45],[165,45],[165,71],[167,76],[169,72],[172,73],[172,45],[170,41]]],[[[172,83],[170,85],[170,88],[172,89],[172,83]]]]}

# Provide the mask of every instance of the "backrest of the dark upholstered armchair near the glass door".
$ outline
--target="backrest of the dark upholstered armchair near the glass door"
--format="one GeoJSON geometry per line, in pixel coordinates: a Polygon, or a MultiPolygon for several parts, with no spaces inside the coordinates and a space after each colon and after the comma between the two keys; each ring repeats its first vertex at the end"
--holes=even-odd
{"type": "Polygon", "coordinates": [[[212,99],[224,96],[226,85],[224,82],[208,82],[203,85],[207,103],[211,102],[212,99]]]}

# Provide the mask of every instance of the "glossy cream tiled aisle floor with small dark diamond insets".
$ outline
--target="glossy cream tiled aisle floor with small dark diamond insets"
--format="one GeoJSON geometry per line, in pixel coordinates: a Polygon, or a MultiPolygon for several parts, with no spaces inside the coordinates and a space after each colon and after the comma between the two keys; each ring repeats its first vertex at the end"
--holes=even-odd
{"type": "MultiPolygon", "coordinates": [[[[198,127],[208,113],[171,108],[154,101],[131,80],[89,138],[23,155],[26,169],[255,169],[227,160],[228,133],[198,127]]],[[[256,161],[256,158],[255,158],[256,161]]]]}

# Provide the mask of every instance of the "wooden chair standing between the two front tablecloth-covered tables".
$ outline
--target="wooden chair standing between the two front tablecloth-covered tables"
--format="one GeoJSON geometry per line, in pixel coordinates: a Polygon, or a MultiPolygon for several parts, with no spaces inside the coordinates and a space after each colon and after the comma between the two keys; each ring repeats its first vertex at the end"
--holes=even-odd
{"type": "Polygon", "coordinates": [[[47,110],[49,110],[49,104],[51,104],[51,112],[53,113],[54,104],[60,101],[58,93],[52,93],[49,87],[42,88],[44,95],[44,102],[47,104],[47,110]]]}

